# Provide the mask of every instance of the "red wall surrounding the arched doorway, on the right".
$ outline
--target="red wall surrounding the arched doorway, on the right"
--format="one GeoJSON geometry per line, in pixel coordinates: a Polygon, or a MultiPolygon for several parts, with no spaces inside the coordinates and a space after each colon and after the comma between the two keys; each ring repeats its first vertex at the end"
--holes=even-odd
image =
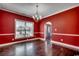
{"type": "MultiPolygon", "coordinates": [[[[79,7],[42,19],[39,22],[40,32],[44,32],[46,22],[52,23],[52,33],[79,34],[79,7]],[[55,31],[55,29],[57,30],[55,31]]],[[[41,37],[44,35],[41,34],[41,37]]],[[[52,37],[54,41],[61,42],[61,39],[63,39],[63,43],[79,46],[79,37],[66,35],[53,35],[52,37]]]]}

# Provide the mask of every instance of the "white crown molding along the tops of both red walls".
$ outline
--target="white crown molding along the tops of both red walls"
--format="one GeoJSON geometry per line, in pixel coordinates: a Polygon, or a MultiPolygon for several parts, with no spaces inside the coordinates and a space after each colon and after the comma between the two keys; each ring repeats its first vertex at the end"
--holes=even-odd
{"type": "MultiPolygon", "coordinates": [[[[65,9],[60,10],[60,11],[57,11],[57,12],[55,12],[55,13],[51,13],[50,15],[47,15],[47,16],[42,17],[41,19],[44,19],[44,18],[50,17],[50,16],[52,16],[52,15],[55,15],[55,14],[64,12],[64,11],[66,11],[66,10],[75,8],[75,7],[77,7],[77,6],[79,6],[79,4],[74,5],[74,6],[71,6],[71,7],[68,7],[68,8],[65,8],[65,9]]],[[[12,10],[9,10],[9,9],[5,9],[2,5],[0,5],[0,9],[5,10],[5,11],[8,11],[8,12],[15,13],[15,14],[19,14],[19,15],[22,15],[22,16],[26,16],[26,17],[33,18],[32,16],[28,16],[28,15],[25,15],[25,14],[23,14],[23,13],[19,13],[19,12],[16,12],[16,11],[12,11],[12,10]]]]}

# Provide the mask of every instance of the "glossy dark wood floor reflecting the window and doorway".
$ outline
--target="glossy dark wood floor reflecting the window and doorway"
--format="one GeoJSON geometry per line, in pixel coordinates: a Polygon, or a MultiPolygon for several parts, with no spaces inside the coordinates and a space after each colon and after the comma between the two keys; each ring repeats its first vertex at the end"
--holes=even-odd
{"type": "Polygon", "coordinates": [[[24,42],[0,48],[0,56],[74,56],[79,52],[41,40],[24,42]]]}

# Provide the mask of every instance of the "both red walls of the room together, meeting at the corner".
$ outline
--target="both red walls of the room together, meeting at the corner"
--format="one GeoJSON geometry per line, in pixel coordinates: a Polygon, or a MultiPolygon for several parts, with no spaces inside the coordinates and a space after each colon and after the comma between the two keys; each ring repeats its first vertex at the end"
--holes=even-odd
{"type": "MultiPolygon", "coordinates": [[[[53,31],[52,33],[64,33],[64,34],[79,34],[79,7],[52,15],[50,17],[44,18],[38,22],[32,18],[17,15],[11,12],[0,10],[0,34],[10,34],[15,33],[15,19],[22,19],[25,21],[34,22],[34,37],[44,37],[44,24],[48,21],[52,23],[53,31]],[[57,31],[55,31],[55,28],[57,31]]],[[[34,38],[30,37],[30,38],[34,38]]],[[[0,44],[14,42],[18,40],[14,39],[14,35],[0,35],[0,44]]],[[[27,40],[27,38],[19,40],[27,40]]],[[[79,46],[78,36],[62,36],[53,35],[52,40],[63,43],[79,46]]]]}

